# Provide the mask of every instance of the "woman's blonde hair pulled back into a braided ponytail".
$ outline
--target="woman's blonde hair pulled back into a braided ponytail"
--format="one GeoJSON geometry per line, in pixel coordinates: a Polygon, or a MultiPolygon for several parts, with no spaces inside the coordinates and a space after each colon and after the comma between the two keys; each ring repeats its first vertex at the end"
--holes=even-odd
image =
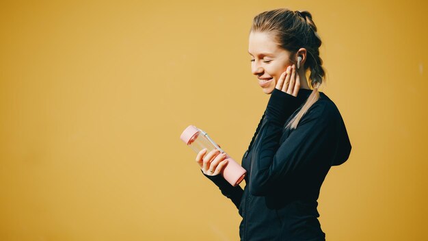
{"type": "MultiPolygon", "coordinates": [[[[256,15],[250,32],[267,32],[273,34],[282,49],[295,55],[298,49],[305,48],[308,53],[304,70],[310,70],[309,80],[313,90],[300,108],[299,112],[285,125],[285,129],[295,129],[300,119],[309,108],[319,99],[319,86],[325,81],[325,71],[321,66],[323,60],[319,57],[321,38],[317,34],[317,26],[312,21],[308,11],[292,11],[286,8],[270,10],[256,15]]],[[[295,63],[294,60],[291,62],[295,63]]]]}

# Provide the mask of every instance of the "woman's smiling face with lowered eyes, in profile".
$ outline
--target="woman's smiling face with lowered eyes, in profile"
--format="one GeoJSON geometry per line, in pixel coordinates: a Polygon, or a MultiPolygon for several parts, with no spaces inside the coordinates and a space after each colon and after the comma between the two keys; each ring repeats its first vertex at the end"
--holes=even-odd
{"type": "Polygon", "coordinates": [[[248,46],[251,55],[251,72],[265,94],[271,94],[282,73],[289,65],[291,53],[278,47],[270,34],[251,32],[248,46]]]}

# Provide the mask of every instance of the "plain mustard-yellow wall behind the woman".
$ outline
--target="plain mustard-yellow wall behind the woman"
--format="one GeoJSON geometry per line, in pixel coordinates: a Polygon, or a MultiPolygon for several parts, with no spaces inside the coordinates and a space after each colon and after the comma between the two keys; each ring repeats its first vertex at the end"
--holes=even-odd
{"type": "Polygon", "coordinates": [[[426,1],[1,1],[0,240],[238,240],[180,141],[235,160],[269,96],[252,18],[308,10],[353,146],[319,197],[327,240],[426,240],[426,1]]]}

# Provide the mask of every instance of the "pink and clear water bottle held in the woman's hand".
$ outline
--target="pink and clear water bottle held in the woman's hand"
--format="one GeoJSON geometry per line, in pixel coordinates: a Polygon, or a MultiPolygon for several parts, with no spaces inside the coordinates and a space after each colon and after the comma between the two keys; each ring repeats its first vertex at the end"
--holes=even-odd
{"type": "MultiPolygon", "coordinates": [[[[181,134],[180,139],[196,153],[199,153],[204,148],[206,148],[206,153],[209,153],[213,149],[219,149],[221,153],[224,153],[224,151],[211,140],[206,132],[202,131],[202,129],[198,129],[194,125],[189,125],[189,127],[183,131],[183,134],[181,134]]],[[[226,160],[228,160],[228,164],[224,167],[222,175],[226,181],[235,187],[241,183],[247,170],[237,164],[227,153],[226,160]]]]}

